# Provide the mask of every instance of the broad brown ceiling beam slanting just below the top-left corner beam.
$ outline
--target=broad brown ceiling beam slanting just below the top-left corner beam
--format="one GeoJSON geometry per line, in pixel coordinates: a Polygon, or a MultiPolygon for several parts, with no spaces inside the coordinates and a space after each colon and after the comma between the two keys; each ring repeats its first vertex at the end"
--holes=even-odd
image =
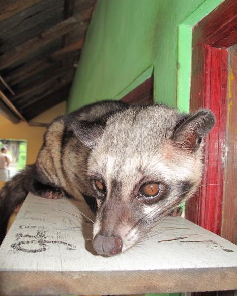
{"type": "Polygon", "coordinates": [[[74,30],[77,24],[78,21],[74,17],[70,17],[54,25],[49,30],[42,32],[39,36],[16,46],[13,50],[0,56],[0,70],[9,67],[13,63],[29,55],[29,53],[39,49],[41,46],[74,30]]]}

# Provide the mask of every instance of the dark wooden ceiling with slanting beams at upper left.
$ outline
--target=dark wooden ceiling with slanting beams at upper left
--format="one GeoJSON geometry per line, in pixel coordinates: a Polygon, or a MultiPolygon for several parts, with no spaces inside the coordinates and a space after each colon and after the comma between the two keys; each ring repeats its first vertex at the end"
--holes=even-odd
{"type": "Polygon", "coordinates": [[[0,0],[0,113],[29,121],[67,100],[96,0],[0,0]]]}

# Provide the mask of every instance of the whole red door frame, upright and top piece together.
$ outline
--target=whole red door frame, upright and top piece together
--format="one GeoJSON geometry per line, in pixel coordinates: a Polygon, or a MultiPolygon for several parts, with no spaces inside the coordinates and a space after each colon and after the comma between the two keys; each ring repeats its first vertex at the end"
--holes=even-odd
{"type": "Polygon", "coordinates": [[[216,125],[206,139],[203,181],[187,202],[186,218],[221,234],[226,153],[228,47],[237,43],[237,1],[225,0],[193,28],[190,110],[211,109],[216,125]]]}

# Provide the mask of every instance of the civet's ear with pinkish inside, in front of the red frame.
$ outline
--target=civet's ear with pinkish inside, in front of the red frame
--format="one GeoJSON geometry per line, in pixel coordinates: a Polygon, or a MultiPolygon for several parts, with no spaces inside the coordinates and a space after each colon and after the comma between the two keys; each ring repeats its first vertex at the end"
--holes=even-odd
{"type": "Polygon", "coordinates": [[[176,146],[195,152],[215,124],[215,117],[208,109],[200,109],[191,114],[185,121],[177,126],[173,140],[176,146]]]}

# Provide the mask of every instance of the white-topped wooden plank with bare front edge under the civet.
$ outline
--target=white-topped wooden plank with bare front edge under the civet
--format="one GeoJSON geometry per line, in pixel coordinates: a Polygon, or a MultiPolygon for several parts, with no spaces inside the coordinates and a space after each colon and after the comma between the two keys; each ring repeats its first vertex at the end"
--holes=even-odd
{"type": "Polygon", "coordinates": [[[93,255],[83,201],[29,194],[0,248],[1,295],[91,295],[237,288],[237,246],[181,217],[146,243],[93,255]],[[139,259],[140,258],[140,259],[139,259]]]}

